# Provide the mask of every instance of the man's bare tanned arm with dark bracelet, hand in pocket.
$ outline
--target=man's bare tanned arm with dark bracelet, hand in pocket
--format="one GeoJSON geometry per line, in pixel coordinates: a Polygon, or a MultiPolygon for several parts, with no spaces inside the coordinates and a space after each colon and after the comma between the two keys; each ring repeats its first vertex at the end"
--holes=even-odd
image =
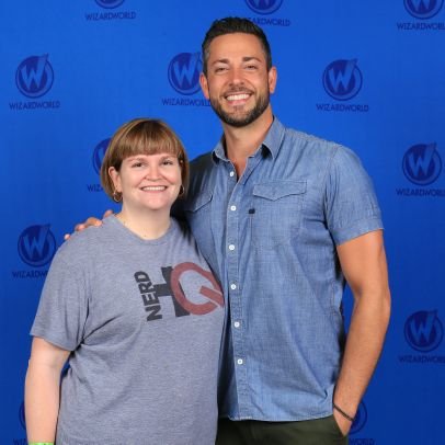
{"type": "MultiPolygon", "coordinates": [[[[389,322],[390,293],[383,231],[346,241],[336,251],[354,306],[333,402],[353,418],[377,365],[389,322]]],[[[346,434],[352,422],[336,409],[334,417],[346,434]]]]}

